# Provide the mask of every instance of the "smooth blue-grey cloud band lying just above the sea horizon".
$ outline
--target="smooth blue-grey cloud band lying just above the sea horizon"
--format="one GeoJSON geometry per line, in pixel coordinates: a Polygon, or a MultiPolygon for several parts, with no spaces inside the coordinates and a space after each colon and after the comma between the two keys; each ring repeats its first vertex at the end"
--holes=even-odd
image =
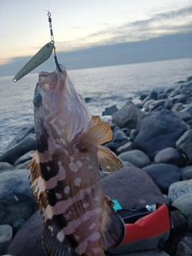
{"type": "MultiPolygon", "coordinates": [[[[97,66],[114,66],[138,62],[153,62],[166,59],[192,58],[192,32],[164,35],[138,42],[123,42],[105,46],[92,46],[81,50],[58,52],[58,62],[67,70],[97,66]]],[[[0,76],[18,73],[31,56],[14,58],[12,62],[2,65],[0,76]]],[[[33,73],[39,70],[54,70],[53,56],[33,73]]]]}

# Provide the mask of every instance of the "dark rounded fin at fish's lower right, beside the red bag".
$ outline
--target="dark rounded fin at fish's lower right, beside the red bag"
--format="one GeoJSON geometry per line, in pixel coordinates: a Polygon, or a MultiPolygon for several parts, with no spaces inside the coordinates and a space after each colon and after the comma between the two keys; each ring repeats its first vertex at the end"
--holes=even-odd
{"type": "Polygon", "coordinates": [[[104,198],[104,214],[102,214],[102,246],[104,250],[119,246],[126,232],[124,222],[114,210],[113,205],[110,198],[104,198]]]}

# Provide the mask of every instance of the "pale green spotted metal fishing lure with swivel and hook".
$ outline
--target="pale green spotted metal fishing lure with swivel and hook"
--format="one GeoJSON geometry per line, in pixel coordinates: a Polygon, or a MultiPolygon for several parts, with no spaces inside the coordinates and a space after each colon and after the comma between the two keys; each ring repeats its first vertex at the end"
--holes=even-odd
{"type": "Polygon", "coordinates": [[[41,65],[43,62],[46,62],[46,60],[48,58],[50,58],[50,55],[52,54],[53,50],[54,50],[54,61],[56,66],[58,67],[58,70],[60,72],[62,72],[59,64],[58,64],[58,59],[56,56],[56,51],[55,51],[55,46],[54,46],[54,33],[53,33],[53,29],[52,29],[52,21],[51,21],[51,14],[50,12],[48,12],[47,14],[48,16],[48,22],[50,23],[50,42],[46,43],[45,46],[42,47],[41,50],[38,51],[37,54],[34,55],[34,57],[32,57],[30,59],[29,62],[26,63],[25,66],[22,67],[21,70],[18,71],[18,74],[16,74],[14,76],[13,81],[17,82],[18,80],[20,80],[21,78],[23,78],[26,74],[29,74],[30,71],[34,70],[36,67],[38,67],[39,65],[41,65]]]}

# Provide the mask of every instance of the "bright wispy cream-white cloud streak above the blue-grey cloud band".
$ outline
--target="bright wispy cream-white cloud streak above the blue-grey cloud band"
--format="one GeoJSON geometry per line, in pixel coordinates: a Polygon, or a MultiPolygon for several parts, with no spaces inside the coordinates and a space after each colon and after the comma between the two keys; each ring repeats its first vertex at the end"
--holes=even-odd
{"type": "Polygon", "coordinates": [[[192,31],[192,6],[185,6],[177,10],[151,14],[148,19],[126,22],[122,26],[108,26],[105,30],[88,34],[86,38],[78,38],[71,42],[58,42],[58,48],[75,50],[119,42],[135,42],[189,31],[192,31]]]}

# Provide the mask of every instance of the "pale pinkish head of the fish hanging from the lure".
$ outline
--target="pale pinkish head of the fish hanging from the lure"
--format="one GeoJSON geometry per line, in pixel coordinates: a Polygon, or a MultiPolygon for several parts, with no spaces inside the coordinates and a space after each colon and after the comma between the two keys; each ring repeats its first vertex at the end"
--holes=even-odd
{"type": "Polygon", "coordinates": [[[39,81],[34,90],[34,120],[36,130],[41,126],[49,138],[66,144],[90,126],[91,116],[65,67],[60,66],[62,72],[55,70],[39,73],[39,81]]]}

